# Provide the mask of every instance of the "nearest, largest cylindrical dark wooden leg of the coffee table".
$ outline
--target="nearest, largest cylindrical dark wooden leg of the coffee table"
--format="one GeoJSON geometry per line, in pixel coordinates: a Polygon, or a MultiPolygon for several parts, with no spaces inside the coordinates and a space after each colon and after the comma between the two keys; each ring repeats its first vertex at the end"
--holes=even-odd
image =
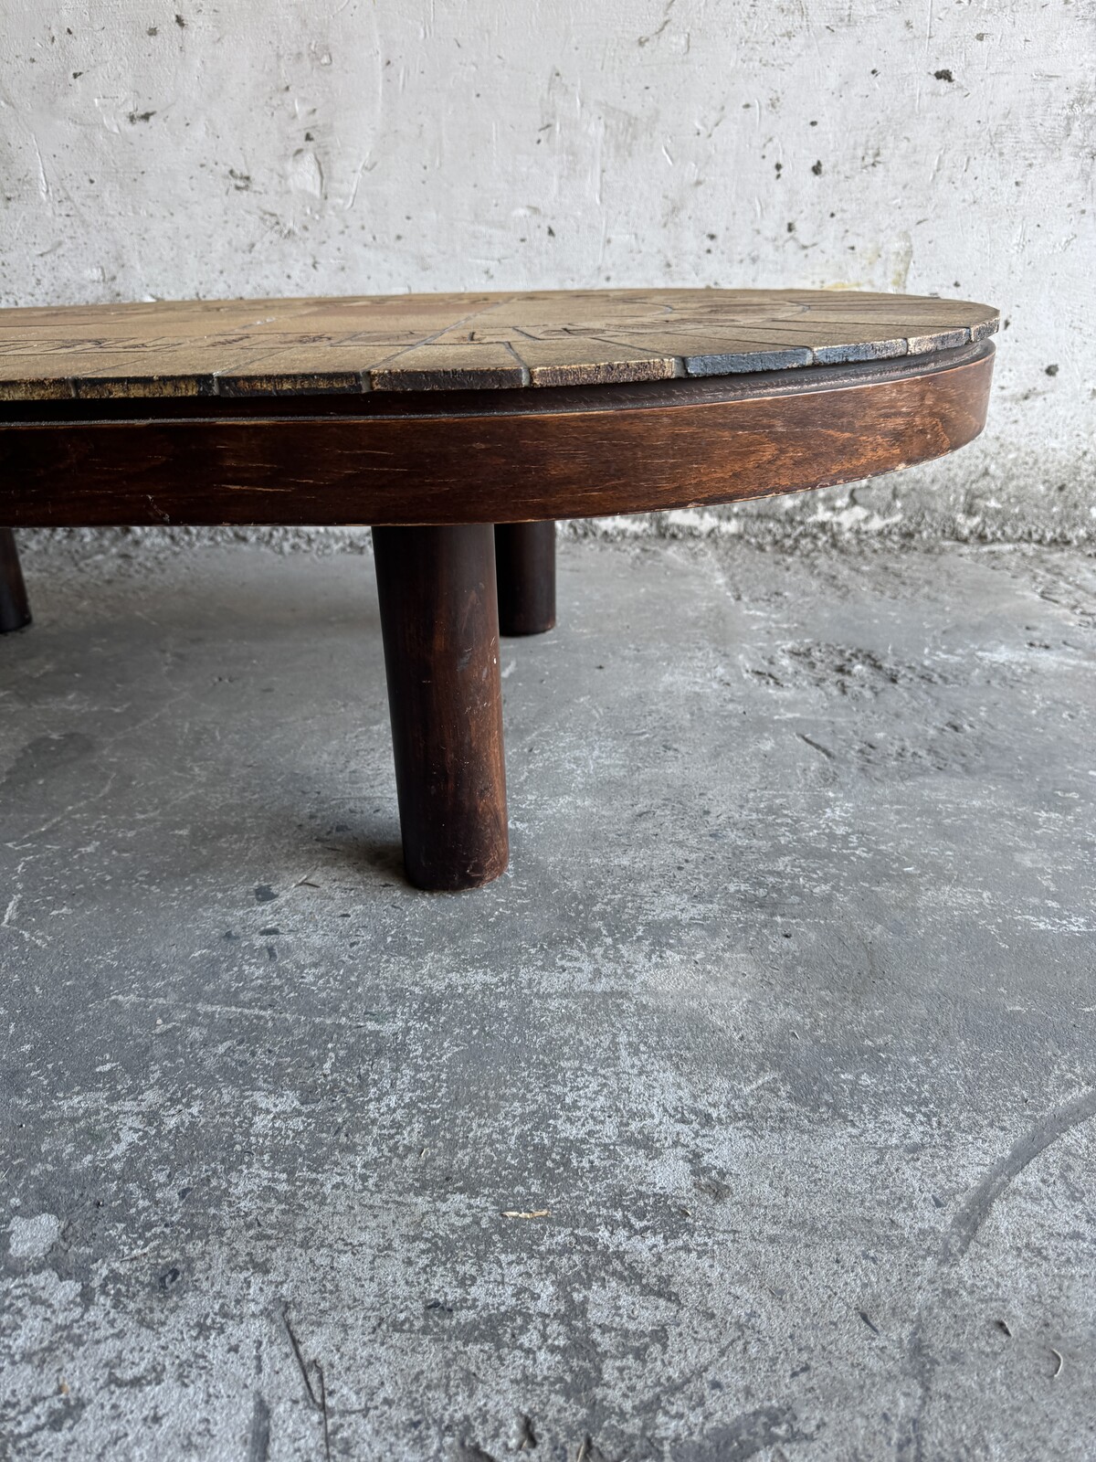
{"type": "Polygon", "coordinates": [[[403,866],[421,889],[506,868],[494,532],[374,528],[403,866]]]}

